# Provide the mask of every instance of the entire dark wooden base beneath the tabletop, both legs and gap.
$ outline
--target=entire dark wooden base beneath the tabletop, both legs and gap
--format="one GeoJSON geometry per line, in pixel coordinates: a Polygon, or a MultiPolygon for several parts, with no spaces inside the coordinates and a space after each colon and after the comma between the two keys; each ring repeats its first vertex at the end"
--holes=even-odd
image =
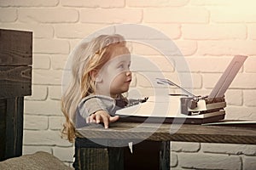
{"type": "MultiPolygon", "coordinates": [[[[132,146],[133,153],[128,146],[110,147],[101,145],[108,143],[125,143],[131,140],[98,139],[99,144],[90,139],[77,138],[75,141],[76,170],[129,170],[129,169],[170,169],[170,141],[144,140],[132,146]]],[[[96,141],[96,140],[94,140],[96,141]]],[[[136,139],[134,140],[136,141],[136,139]]]]}

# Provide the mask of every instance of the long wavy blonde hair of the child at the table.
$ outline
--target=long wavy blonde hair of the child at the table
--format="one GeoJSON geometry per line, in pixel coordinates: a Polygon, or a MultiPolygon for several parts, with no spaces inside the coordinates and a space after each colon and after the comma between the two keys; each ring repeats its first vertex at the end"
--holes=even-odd
{"type": "Polygon", "coordinates": [[[66,117],[62,134],[70,142],[76,137],[75,120],[79,102],[95,93],[95,81],[90,77],[90,71],[101,69],[110,59],[116,45],[125,46],[124,37],[118,34],[102,35],[90,42],[80,42],[70,56],[73,57],[71,82],[61,98],[61,111],[66,117]]]}

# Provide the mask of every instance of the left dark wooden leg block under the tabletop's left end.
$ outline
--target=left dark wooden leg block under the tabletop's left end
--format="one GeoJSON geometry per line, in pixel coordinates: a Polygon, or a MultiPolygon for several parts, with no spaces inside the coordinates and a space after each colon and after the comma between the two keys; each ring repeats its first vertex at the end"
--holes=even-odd
{"type": "Polygon", "coordinates": [[[123,148],[102,145],[104,140],[108,143],[108,139],[100,139],[97,144],[90,139],[77,138],[73,167],[79,170],[123,170],[123,148]]]}

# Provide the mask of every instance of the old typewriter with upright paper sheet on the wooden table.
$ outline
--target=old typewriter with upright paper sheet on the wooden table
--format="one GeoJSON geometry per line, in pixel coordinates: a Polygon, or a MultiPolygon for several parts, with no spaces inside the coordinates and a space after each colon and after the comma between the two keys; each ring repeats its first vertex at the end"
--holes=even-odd
{"type": "Polygon", "coordinates": [[[134,100],[124,109],[116,112],[120,122],[177,122],[202,124],[224,119],[226,102],[224,93],[241,69],[247,56],[236,55],[218,79],[211,94],[196,96],[167,79],[156,78],[161,85],[175,86],[184,94],[149,96],[134,100]]]}

